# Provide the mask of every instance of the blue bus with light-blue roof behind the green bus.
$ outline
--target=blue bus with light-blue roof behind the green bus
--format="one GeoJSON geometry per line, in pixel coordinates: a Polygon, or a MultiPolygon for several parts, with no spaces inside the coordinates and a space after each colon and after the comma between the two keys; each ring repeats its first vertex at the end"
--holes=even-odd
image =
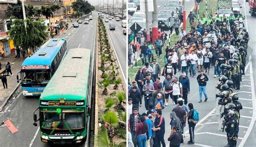
{"type": "MultiPolygon", "coordinates": [[[[20,78],[23,95],[40,95],[66,54],[66,40],[50,39],[22,63],[20,78]]],[[[19,74],[18,73],[18,74],[19,74]]]]}

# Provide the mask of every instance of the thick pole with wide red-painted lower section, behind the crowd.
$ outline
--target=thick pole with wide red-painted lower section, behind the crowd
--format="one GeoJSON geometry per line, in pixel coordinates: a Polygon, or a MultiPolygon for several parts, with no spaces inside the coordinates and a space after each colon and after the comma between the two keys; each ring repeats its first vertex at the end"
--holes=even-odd
{"type": "Polygon", "coordinates": [[[154,41],[158,38],[158,21],[157,21],[157,14],[158,14],[158,0],[153,0],[154,4],[154,11],[152,14],[152,44],[154,44],[154,41]]]}

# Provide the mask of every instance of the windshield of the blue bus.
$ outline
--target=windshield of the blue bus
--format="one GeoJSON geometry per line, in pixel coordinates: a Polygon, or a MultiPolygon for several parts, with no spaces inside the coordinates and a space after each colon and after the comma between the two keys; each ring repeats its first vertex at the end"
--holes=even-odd
{"type": "Polygon", "coordinates": [[[22,86],[46,86],[50,81],[50,70],[23,70],[22,86]]]}

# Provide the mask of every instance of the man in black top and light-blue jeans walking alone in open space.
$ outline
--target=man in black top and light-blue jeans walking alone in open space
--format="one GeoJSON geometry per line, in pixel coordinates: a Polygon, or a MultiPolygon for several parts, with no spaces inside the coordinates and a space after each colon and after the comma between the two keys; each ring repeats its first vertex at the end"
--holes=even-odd
{"type": "Polygon", "coordinates": [[[202,102],[202,94],[204,93],[205,95],[205,101],[207,101],[207,93],[206,93],[206,82],[208,81],[208,77],[204,73],[204,70],[200,71],[200,74],[197,76],[197,82],[199,84],[199,102],[202,102]]]}

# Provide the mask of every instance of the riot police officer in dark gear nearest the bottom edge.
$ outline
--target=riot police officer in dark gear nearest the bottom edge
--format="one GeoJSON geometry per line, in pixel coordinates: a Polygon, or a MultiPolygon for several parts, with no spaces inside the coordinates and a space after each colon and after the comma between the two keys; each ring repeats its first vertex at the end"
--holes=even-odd
{"type": "Polygon", "coordinates": [[[226,123],[226,133],[227,133],[227,141],[230,147],[237,145],[238,138],[238,120],[232,116],[231,119],[228,119],[226,123]]]}

